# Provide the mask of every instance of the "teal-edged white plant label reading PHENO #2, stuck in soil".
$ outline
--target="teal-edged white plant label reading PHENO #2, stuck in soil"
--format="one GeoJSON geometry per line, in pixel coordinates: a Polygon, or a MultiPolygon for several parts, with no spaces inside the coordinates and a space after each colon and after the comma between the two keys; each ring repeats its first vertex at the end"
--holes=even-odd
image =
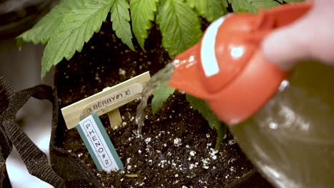
{"type": "Polygon", "coordinates": [[[76,129],[99,171],[123,169],[123,163],[96,113],[79,122],[76,129]]]}

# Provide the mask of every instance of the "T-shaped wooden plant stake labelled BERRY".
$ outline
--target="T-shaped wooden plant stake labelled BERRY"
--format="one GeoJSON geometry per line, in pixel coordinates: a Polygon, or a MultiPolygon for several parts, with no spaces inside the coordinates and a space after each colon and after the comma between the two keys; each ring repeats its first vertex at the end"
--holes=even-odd
{"type": "Polygon", "coordinates": [[[111,125],[120,125],[121,114],[118,108],[140,97],[143,88],[150,78],[148,72],[142,73],[123,83],[105,88],[95,95],[61,108],[67,128],[71,129],[75,127],[78,122],[93,113],[97,115],[108,113],[111,125]]]}

